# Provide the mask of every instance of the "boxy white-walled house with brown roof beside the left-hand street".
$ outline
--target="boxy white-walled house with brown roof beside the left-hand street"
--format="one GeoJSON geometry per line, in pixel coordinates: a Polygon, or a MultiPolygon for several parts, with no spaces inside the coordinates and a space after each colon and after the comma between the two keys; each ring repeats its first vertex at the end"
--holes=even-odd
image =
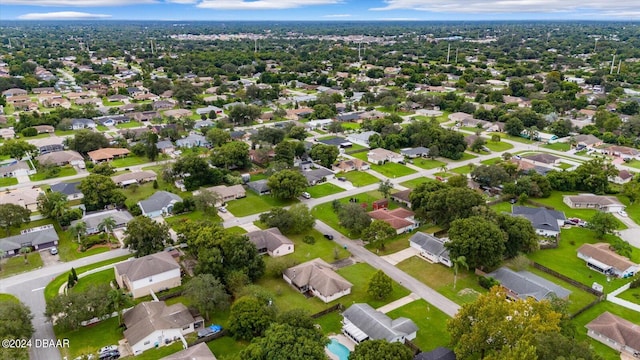
{"type": "Polygon", "coordinates": [[[113,271],[118,286],[134,299],[182,284],[180,265],[167,251],[117,263],[113,271]]]}

